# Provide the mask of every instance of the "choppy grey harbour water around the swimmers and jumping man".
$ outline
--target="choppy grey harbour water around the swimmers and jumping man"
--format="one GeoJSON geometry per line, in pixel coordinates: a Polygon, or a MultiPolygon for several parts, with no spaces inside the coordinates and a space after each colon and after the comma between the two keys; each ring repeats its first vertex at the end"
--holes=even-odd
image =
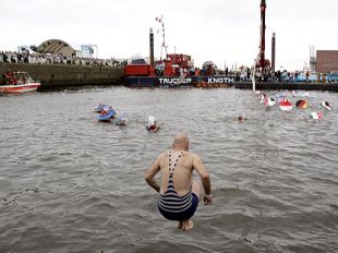
{"type": "Polygon", "coordinates": [[[234,88],[1,96],[0,252],[337,252],[338,99],[311,95],[311,109],[289,112],[234,88]],[[333,110],[311,120],[322,100],[333,110]],[[129,125],[97,122],[100,101],[129,125]],[[145,130],[148,115],[159,132],[145,130]],[[143,179],[180,131],[215,197],[189,232],[160,216],[143,179]]]}

